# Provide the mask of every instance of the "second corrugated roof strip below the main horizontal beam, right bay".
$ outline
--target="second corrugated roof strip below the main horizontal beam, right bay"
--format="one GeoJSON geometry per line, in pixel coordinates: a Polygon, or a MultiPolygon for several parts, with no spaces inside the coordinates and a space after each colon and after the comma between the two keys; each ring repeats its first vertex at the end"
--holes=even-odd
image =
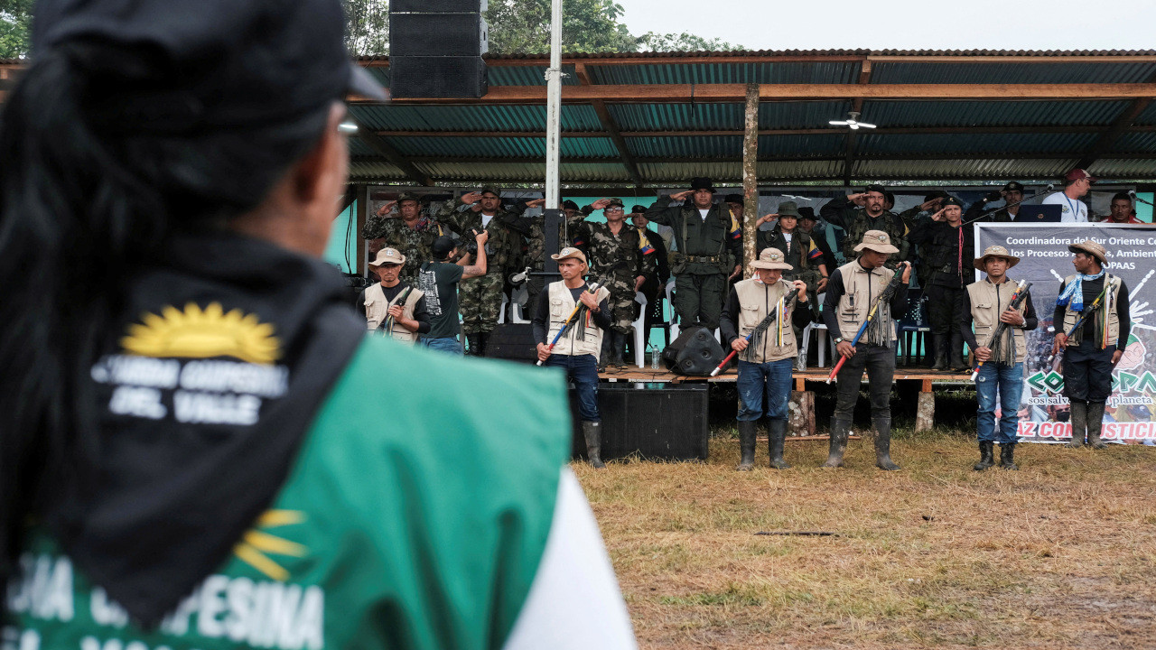
{"type": "Polygon", "coordinates": [[[928,135],[880,135],[870,133],[857,139],[855,154],[899,155],[935,154],[1051,154],[1083,152],[1098,138],[1097,133],[938,133],[928,135]]]}

